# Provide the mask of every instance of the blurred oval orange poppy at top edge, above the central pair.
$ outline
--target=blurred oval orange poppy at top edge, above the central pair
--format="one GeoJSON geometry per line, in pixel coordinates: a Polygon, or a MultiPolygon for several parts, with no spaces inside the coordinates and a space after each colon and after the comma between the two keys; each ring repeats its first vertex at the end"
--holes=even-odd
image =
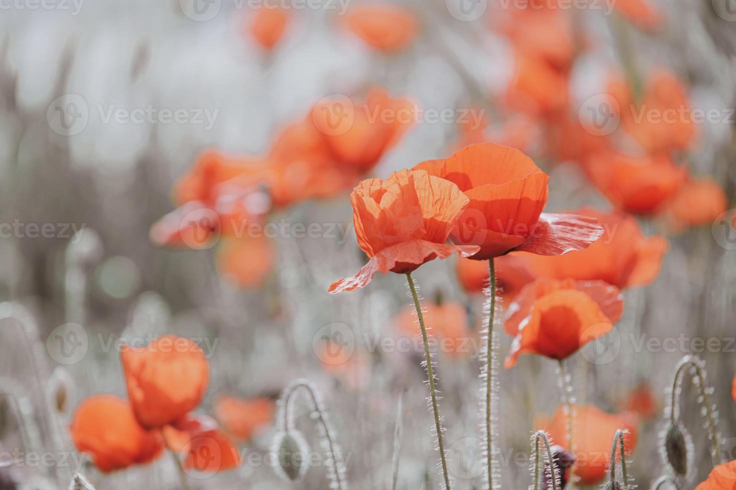
{"type": "Polygon", "coordinates": [[[414,12],[388,3],[351,6],[347,26],[368,46],[385,53],[406,47],[419,31],[414,12]]]}

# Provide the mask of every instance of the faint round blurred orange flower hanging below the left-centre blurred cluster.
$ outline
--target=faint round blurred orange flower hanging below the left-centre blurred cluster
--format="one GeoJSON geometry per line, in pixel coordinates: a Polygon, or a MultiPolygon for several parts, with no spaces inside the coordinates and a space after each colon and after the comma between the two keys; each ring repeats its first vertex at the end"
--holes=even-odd
{"type": "Polygon", "coordinates": [[[265,236],[224,240],[217,268],[227,281],[246,289],[260,287],[274,267],[274,250],[265,236]]]}

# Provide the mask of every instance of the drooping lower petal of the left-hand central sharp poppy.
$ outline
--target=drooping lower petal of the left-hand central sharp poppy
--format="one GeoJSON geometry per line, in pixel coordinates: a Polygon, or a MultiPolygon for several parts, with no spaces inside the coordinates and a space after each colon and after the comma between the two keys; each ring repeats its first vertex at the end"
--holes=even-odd
{"type": "Polygon", "coordinates": [[[478,251],[474,245],[446,245],[444,243],[428,242],[426,240],[411,240],[389,248],[372,256],[361,270],[352,278],[345,278],[334,282],[329,292],[336,294],[343,291],[353,291],[366,286],[377,272],[381,273],[410,273],[417,267],[434,259],[446,259],[453,253],[468,257],[478,251]]]}

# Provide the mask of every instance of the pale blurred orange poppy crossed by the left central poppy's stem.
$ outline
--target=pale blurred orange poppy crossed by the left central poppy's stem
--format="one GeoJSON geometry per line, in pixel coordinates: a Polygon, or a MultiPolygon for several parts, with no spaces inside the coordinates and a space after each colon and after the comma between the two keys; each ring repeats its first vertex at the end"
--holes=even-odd
{"type": "MultiPolygon", "coordinates": [[[[476,261],[477,262],[477,261],[476,261]]],[[[482,262],[481,262],[482,263],[482,262]]],[[[441,304],[422,302],[427,327],[440,346],[439,350],[450,356],[464,356],[469,352],[468,339],[473,331],[468,325],[467,310],[460,303],[443,301],[441,304]]],[[[414,306],[406,306],[394,317],[398,335],[408,336],[420,344],[421,334],[414,306]]]]}

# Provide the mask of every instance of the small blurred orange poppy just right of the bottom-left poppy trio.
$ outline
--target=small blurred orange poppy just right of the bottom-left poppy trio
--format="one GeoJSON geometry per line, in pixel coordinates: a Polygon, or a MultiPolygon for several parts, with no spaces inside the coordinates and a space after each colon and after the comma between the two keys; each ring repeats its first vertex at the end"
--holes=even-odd
{"type": "Polygon", "coordinates": [[[236,398],[229,394],[217,397],[215,417],[236,439],[250,441],[252,437],[273,422],[275,403],[268,398],[236,398]]]}

